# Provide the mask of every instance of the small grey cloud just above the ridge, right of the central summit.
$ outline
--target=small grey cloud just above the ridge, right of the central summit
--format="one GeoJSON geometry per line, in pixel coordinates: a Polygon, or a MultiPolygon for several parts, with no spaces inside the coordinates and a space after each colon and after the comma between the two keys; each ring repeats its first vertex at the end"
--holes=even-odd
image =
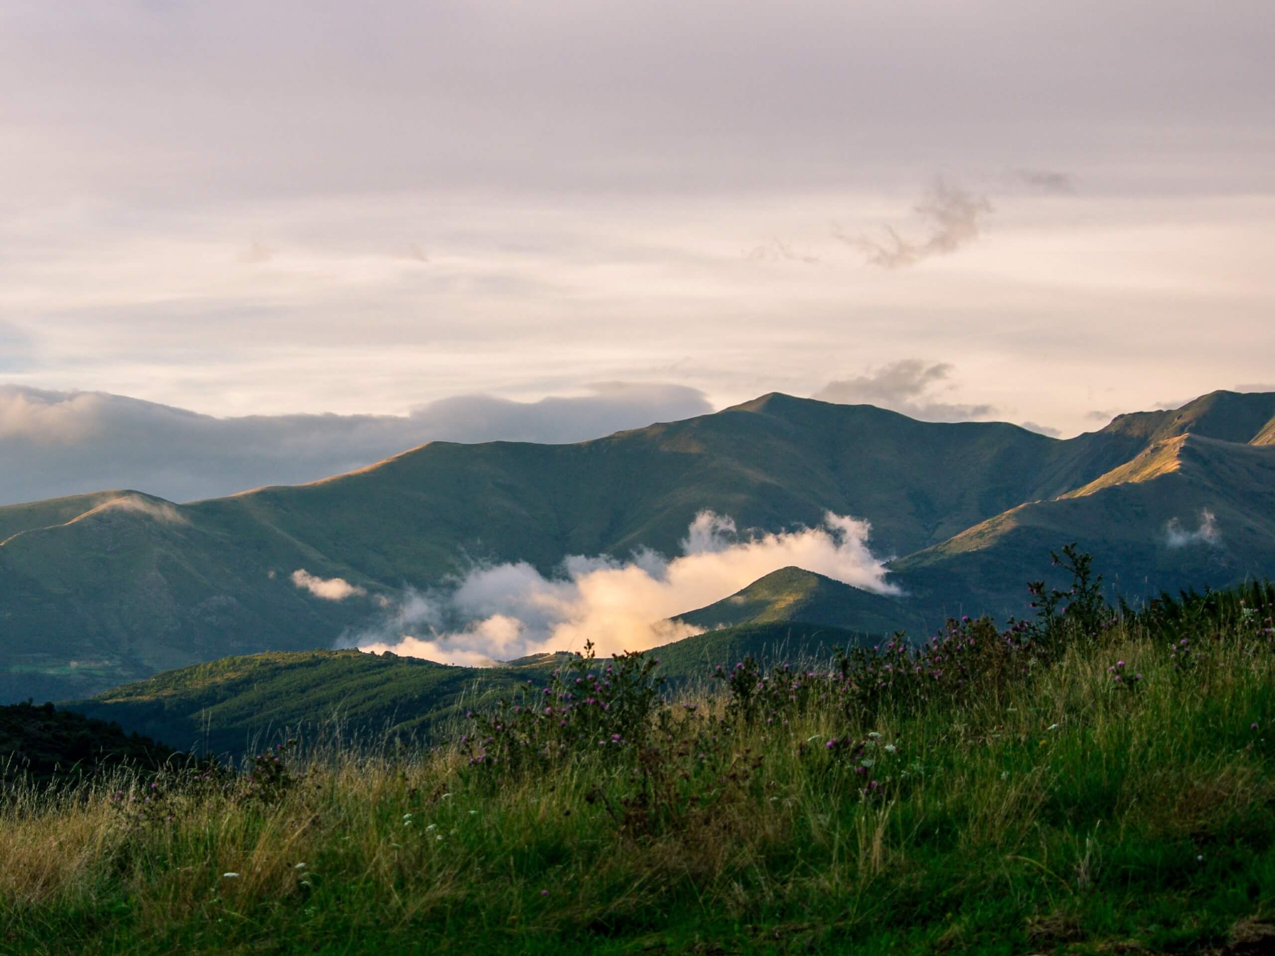
{"type": "Polygon", "coordinates": [[[843,405],[878,405],[924,422],[965,422],[987,418],[994,405],[941,402],[952,366],[946,362],[926,363],[919,358],[870,368],[853,379],[830,381],[812,398],[843,405]]]}

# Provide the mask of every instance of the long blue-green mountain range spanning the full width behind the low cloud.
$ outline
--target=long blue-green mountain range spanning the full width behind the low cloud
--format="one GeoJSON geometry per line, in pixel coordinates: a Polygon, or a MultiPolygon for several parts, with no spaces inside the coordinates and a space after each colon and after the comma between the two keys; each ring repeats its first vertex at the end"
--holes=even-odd
{"type": "Polygon", "coordinates": [[[1122,586],[1201,570],[1220,585],[1275,570],[1262,538],[1272,421],[1275,395],[1214,393],[1060,441],[770,394],[575,445],[433,442],[191,505],[130,491],[5,507],[0,700],[85,697],[227,655],[330,648],[385,602],[474,560],[551,572],[570,554],[676,553],[703,509],[770,532],[826,510],[866,518],[926,619],[1020,613],[1023,581],[1071,539],[1122,586]],[[1173,454],[1187,463],[1153,474],[1182,436],[1173,454]],[[1221,546],[1169,547],[1205,509],[1221,546]],[[298,589],[301,569],[344,579],[354,597],[298,589]]]}

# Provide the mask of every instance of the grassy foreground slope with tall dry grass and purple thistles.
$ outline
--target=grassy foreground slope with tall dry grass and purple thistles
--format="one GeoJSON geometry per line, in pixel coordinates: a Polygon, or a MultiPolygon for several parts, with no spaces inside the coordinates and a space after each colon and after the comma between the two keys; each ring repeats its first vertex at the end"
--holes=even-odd
{"type": "Polygon", "coordinates": [[[17,786],[0,950],[1269,951],[1270,605],[1070,597],[676,700],[580,659],[432,752],[17,786]]]}

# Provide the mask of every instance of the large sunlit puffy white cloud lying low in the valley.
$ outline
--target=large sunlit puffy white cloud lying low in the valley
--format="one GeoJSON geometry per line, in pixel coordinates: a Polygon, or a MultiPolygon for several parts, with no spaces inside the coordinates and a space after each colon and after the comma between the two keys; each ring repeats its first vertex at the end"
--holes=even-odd
{"type": "Polygon", "coordinates": [[[543,576],[525,562],[476,567],[437,594],[409,595],[385,621],[342,644],[442,663],[527,654],[645,650],[700,634],[677,614],[731,597],[771,571],[797,566],[878,594],[899,594],[868,548],[871,525],[827,512],[817,528],[741,534],[729,518],[700,512],[682,553],[629,561],[575,556],[543,576]]]}

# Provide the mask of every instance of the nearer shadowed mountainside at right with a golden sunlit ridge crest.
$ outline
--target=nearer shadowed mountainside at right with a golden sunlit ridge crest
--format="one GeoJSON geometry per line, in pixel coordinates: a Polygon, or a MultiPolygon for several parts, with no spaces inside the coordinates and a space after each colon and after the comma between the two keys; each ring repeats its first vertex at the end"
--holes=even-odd
{"type": "MultiPolygon", "coordinates": [[[[1020,505],[895,563],[918,599],[1028,613],[1021,580],[1076,540],[1130,599],[1275,569],[1275,447],[1182,433],[1051,501],[1020,505]]],[[[1048,570],[1048,569],[1044,569],[1048,570]]]]}

